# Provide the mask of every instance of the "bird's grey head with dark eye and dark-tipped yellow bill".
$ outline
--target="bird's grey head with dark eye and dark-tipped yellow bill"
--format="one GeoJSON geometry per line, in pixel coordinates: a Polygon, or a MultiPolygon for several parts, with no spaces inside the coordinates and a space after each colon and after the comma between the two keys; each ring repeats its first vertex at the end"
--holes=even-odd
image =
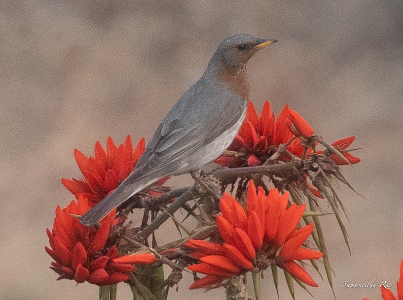
{"type": "Polygon", "coordinates": [[[241,68],[259,49],[276,41],[256,38],[246,33],[229,36],[220,43],[209,67],[241,68]]]}

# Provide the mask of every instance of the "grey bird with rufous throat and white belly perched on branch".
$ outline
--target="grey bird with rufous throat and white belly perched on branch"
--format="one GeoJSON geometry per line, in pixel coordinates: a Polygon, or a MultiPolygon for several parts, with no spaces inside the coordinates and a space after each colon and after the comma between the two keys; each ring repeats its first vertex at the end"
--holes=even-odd
{"type": "Polygon", "coordinates": [[[80,222],[97,224],[112,209],[167,175],[200,176],[206,164],[233,141],[246,116],[249,82],[246,63],[277,42],[238,33],[225,38],[205,72],[172,107],[129,176],[80,222]]]}

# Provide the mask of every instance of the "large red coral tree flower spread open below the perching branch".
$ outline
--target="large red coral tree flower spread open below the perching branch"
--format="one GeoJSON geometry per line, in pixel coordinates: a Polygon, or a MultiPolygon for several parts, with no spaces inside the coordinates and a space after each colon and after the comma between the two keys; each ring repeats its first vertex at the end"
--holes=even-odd
{"type": "Polygon", "coordinates": [[[318,259],[322,253],[306,249],[302,244],[312,233],[313,224],[297,229],[305,205],[289,203],[288,193],[279,195],[272,189],[266,197],[253,181],[248,186],[246,210],[224,193],[220,200],[221,216],[217,225],[223,244],[189,240],[185,246],[200,263],[188,268],[207,276],[195,281],[190,289],[214,288],[222,280],[252,270],[277,265],[302,282],[317,286],[311,276],[294,261],[318,259]]]}

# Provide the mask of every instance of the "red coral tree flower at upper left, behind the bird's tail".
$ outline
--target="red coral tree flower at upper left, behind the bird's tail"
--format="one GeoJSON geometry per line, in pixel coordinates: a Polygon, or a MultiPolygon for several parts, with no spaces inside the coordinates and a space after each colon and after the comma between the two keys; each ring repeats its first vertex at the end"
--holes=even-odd
{"type": "MultiPolygon", "coordinates": [[[[83,175],[83,179],[63,178],[62,183],[76,199],[80,195],[88,198],[92,207],[103,200],[129,176],[145,148],[145,140],[142,138],[133,151],[130,135],[127,135],[124,143],[118,147],[109,136],[106,151],[102,148],[101,143],[97,141],[95,143],[94,157],[86,157],[79,150],[74,149],[74,158],[83,175]]],[[[162,185],[167,179],[168,177],[165,177],[154,185],[162,185]]],[[[152,194],[152,191],[149,193],[152,194]]]]}

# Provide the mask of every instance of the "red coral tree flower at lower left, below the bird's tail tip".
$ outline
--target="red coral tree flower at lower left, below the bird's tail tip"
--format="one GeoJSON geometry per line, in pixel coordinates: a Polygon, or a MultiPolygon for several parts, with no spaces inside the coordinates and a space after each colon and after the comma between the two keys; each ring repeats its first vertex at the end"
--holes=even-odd
{"type": "Polygon", "coordinates": [[[110,285],[129,279],[128,272],[135,270],[133,264],[151,264],[153,254],[134,254],[118,257],[115,245],[107,247],[110,227],[116,225],[116,210],[101,221],[98,230],[82,225],[73,215],[88,211],[88,200],[78,197],[63,210],[56,208],[52,231],[46,230],[50,248],[46,252],[55,260],[52,267],[59,279],[72,279],[77,283],[88,281],[96,285],[110,285]]]}

